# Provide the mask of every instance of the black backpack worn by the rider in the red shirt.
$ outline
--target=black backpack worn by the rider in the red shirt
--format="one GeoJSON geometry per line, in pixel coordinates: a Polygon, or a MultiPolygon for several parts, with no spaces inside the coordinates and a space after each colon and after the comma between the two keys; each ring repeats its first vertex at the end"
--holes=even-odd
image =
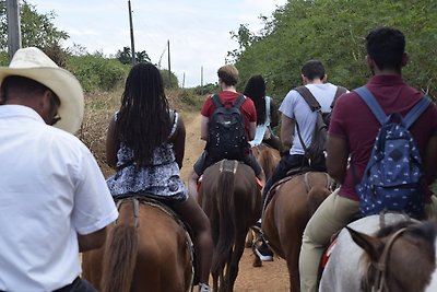
{"type": "Polygon", "coordinates": [[[216,108],[209,121],[206,151],[210,162],[215,163],[223,159],[244,160],[249,144],[239,108],[246,97],[240,94],[234,104],[223,104],[216,94],[211,98],[216,108]]]}

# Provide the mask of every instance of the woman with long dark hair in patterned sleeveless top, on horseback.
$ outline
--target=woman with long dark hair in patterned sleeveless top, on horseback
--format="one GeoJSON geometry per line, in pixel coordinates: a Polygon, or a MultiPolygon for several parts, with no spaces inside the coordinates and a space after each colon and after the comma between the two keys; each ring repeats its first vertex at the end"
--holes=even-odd
{"type": "Polygon", "coordinates": [[[210,291],[210,222],[179,176],[185,136],[180,115],[168,108],[160,70],[150,62],[132,67],[120,110],[109,121],[107,160],[117,173],[107,184],[115,198],[149,196],[163,202],[192,229],[200,291],[210,291]]]}

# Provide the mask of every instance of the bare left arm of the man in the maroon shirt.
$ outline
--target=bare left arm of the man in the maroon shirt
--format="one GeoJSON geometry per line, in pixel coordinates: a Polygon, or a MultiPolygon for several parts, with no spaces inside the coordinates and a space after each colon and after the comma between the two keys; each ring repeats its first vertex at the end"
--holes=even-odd
{"type": "Polygon", "coordinates": [[[328,135],[327,140],[328,174],[339,184],[343,184],[346,176],[349,149],[344,139],[328,135]]]}

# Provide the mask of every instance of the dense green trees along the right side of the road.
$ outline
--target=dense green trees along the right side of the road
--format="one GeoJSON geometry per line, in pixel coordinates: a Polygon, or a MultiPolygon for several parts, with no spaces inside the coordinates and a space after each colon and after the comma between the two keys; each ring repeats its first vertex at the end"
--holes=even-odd
{"type": "Polygon", "coordinates": [[[411,85],[437,95],[437,59],[433,57],[437,45],[436,1],[293,0],[276,9],[264,26],[260,35],[247,30],[234,34],[239,49],[229,56],[235,57],[240,72],[239,86],[260,73],[269,93],[281,101],[300,84],[302,65],[320,59],[330,82],[354,89],[369,78],[365,36],[377,26],[393,26],[406,37],[410,63],[404,78],[411,85]]]}

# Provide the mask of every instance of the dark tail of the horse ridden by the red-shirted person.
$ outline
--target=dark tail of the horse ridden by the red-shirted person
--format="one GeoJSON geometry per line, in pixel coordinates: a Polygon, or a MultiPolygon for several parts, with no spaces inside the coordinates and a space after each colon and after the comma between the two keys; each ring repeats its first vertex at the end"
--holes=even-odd
{"type": "Polygon", "coordinates": [[[235,206],[234,206],[235,174],[222,172],[217,184],[218,241],[212,259],[212,275],[222,273],[227,260],[231,259],[236,238],[235,206]]]}

